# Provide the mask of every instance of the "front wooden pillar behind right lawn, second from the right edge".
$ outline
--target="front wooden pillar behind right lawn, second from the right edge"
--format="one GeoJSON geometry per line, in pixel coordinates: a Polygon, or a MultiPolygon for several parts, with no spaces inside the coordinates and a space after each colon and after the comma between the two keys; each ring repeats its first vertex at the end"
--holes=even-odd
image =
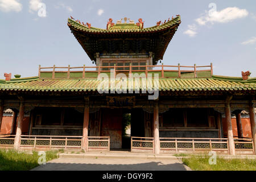
{"type": "Polygon", "coordinates": [[[229,144],[229,154],[235,155],[235,146],[234,146],[234,139],[233,139],[233,130],[232,130],[232,122],[231,122],[231,111],[230,111],[230,100],[232,100],[232,96],[226,99],[225,104],[225,115],[226,115],[226,123],[228,129],[228,144],[229,144]]]}

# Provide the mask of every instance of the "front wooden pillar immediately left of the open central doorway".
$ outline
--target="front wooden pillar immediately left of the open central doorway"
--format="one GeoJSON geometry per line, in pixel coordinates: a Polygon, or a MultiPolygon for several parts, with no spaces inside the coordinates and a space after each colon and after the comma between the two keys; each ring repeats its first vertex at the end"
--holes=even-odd
{"type": "Polygon", "coordinates": [[[89,105],[84,107],[84,125],[82,126],[82,148],[88,151],[89,105]]]}

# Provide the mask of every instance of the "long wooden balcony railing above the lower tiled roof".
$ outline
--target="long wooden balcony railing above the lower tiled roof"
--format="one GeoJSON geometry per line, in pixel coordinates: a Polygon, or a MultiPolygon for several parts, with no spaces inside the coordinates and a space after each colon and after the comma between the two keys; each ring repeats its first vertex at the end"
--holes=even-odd
{"type": "Polygon", "coordinates": [[[178,65],[128,65],[128,66],[101,66],[96,67],[41,67],[39,65],[39,78],[97,78],[100,73],[114,73],[114,77],[118,73],[144,73],[146,77],[149,73],[158,73],[161,78],[202,78],[211,77],[213,75],[213,66],[181,66],[178,65]],[[160,69],[159,69],[160,67],[160,69]],[[202,69],[203,68],[203,69],[202,69]],[[209,68],[209,69],[204,69],[209,68]],[[51,71],[48,71],[51,69],[51,71]],[[60,70],[61,69],[61,70],[60,70]],[[65,69],[63,71],[63,69],[65,69]],[[94,69],[94,70],[92,70],[94,69]],[[111,70],[111,71],[110,71],[111,70]]]}

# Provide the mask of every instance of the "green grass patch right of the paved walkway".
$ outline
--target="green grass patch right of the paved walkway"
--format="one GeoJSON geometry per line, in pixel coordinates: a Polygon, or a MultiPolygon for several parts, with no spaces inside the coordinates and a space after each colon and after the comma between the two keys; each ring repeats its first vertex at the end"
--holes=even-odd
{"type": "Polygon", "coordinates": [[[182,158],[185,165],[195,171],[256,171],[256,159],[216,159],[216,164],[209,164],[208,155],[189,155],[182,158]]]}

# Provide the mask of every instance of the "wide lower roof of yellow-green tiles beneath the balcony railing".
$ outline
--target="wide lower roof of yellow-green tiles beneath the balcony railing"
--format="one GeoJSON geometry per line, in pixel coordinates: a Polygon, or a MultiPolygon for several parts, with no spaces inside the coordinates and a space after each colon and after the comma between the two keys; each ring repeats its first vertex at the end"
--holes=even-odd
{"type": "MultiPolygon", "coordinates": [[[[210,92],[210,93],[256,93],[256,78],[242,80],[237,77],[212,76],[210,78],[159,78],[148,81],[148,88],[159,89],[160,92],[210,92]]],[[[129,81],[122,84],[124,80],[116,80],[114,83],[119,90],[130,90],[129,81]]],[[[113,83],[113,82],[112,82],[113,83]]],[[[14,78],[10,81],[0,80],[0,92],[40,92],[47,94],[49,92],[59,93],[86,93],[96,92],[99,85],[103,90],[112,90],[110,80],[97,80],[97,78],[74,78],[74,79],[42,79],[39,77],[14,78]],[[106,85],[104,84],[106,83],[106,85]]],[[[148,90],[148,88],[133,80],[133,90],[148,90]]],[[[116,89],[117,90],[117,89],[116,89]]],[[[128,92],[127,92],[128,93],[128,92]]],[[[140,92],[141,93],[141,92],[140,92]]]]}

